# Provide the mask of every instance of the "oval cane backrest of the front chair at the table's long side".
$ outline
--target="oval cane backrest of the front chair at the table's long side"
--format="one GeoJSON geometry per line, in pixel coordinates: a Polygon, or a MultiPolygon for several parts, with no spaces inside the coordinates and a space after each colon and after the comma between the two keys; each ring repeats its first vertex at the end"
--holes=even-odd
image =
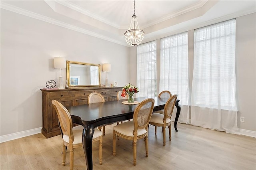
{"type": "Polygon", "coordinates": [[[138,129],[148,129],[148,123],[154,109],[154,103],[154,99],[145,99],[138,104],[133,114],[134,133],[137,133],[138,129]]]}

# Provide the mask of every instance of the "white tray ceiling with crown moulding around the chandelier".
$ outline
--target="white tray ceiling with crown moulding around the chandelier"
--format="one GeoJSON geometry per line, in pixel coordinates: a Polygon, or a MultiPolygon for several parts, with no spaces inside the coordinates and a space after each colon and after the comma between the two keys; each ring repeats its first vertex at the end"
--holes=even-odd
{"type": "MultiPolygon", "coordinates": [[[[132,0],[18,0],[1,8],[126,45],[132,0]]],[[[256,12],[254,0],[136,0],[142,43],[256,12]]]]}

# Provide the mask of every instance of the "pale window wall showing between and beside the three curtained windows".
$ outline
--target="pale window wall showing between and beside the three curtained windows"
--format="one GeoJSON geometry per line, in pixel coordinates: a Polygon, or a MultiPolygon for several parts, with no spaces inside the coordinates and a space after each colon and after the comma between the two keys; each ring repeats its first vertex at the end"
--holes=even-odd
{"type": "MultiPolygon", "coordinates": [[[[190,86],[193,77],[194,30],[188,30],[190,86]]],[[[160,41],[157,41],[160,43],[160,41]]],[[[159,44],[157,44],[158,47],[159,44]]],[[[157,55],[160,57],[160,55],[157,55]]],[[[130,49],[130,61],[136,50],[130,49]]],[[[159,59],[157,61],[160,61],[159,59]]],[[[159,64],[157,64],[159,65],[159,64]]],[[[157,69],[159,70],[159,69],[157,69]]],[[[157,74],[160,76],[160,74],[157,74]]],[[[236,18],[236,76],[238,128],[256,132],[256,13],[236,18]],[[240,122],[240,116],[245,122],[240,122]]],[[[157,77],[159,79],[160,77],[157,77]]]]}

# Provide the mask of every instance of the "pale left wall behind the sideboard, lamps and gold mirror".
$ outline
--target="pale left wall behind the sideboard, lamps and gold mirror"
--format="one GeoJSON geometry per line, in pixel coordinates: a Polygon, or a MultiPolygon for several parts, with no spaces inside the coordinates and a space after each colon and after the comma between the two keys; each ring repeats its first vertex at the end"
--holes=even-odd
{"type": "MultiPolygon", "coordinates": [[[[53,57],[111,63],[109,83],[129,77],[129,48],[1,9],[0,136],[42,127],[42,92],[58,81],[53,57]],[[127,75],[124,76],[124,74],[127,75]]],[[[66,69],[62,69],[66,77],[66,69]]],[[[102,70],[102,68],[101,68],[102,70]]],[[[106,73],[102,72],[105,82],[106,73]]],[[[65,82],[64,82],[65,83],[65,82]]]]}

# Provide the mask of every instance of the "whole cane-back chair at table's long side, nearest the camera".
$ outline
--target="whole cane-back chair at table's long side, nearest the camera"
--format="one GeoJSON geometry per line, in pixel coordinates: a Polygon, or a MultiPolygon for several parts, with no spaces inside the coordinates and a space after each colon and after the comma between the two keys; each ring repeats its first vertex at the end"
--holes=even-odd
{"type": "Polygon", "coordinates": [[[133,164],[136,165],[137,140],[145,139],[146,157],[148,157],[148,123],[154,108],[154,99],[145,99],[134,111],[133,121],[128,121],[113,127],[113,155],[116,155],[116,135],[132,140],[133,164]]]}

